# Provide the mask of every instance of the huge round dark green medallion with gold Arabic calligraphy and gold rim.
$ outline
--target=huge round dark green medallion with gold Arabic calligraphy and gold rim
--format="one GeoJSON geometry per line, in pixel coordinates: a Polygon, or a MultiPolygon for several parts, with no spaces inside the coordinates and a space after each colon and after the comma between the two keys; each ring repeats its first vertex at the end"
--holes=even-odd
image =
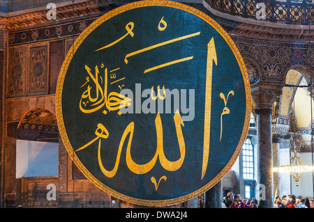
{"type": "Polygon", "coordinates": [[[251,113],[231,38],[171,1],[130,3],[88,26],[63,62],[56,101],[80,171],[112,196],[151,206],[184,202],[221,180],[251,113]]]}

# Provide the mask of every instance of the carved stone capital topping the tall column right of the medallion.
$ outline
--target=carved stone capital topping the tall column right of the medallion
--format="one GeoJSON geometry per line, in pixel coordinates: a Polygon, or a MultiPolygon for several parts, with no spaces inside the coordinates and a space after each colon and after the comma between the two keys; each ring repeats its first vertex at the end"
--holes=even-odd
{"type": "Polygon", "coordinates": [[[253,84],[251,86],[251,95],[257,113],[271,112],[276,97],[283,93],[282,89],[283,86],[281,85],[253,84]]]}

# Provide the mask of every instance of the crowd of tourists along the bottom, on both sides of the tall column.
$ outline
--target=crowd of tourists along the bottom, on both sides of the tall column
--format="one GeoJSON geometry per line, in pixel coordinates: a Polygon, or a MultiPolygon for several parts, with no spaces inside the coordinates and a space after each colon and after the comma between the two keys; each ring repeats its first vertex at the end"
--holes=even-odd
{"type": "MultiPolygon", "coordinates": [[[[302,196],[276,196],[274,200],[274,208],[314,208],[314,200],[309,200],[302,196]]],[[[256,198],[241,198],[240,194],[227,193],[223,198],[223,207],[225,208],[257,208],[256,198]]]]}

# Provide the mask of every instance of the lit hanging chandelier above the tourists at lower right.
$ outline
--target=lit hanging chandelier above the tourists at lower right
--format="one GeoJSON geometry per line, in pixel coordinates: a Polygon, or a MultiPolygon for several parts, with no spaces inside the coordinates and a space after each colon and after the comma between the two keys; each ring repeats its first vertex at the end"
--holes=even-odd
{"type": "Polygon", "coordinates": [[[298,152],[301,149],[301,143],[299,143],[295,134],[290,138],[290,152],[293,156],[290,158],[290,164],[286,166],[277,166],[273,168],[274,173],[290,173],[292,178],[296,182],[296,186],[299,186],[299,179],[303,173],[314,171],[313,165],[305,165],[301,162],[301,157],[298,157],[298,152]]]}

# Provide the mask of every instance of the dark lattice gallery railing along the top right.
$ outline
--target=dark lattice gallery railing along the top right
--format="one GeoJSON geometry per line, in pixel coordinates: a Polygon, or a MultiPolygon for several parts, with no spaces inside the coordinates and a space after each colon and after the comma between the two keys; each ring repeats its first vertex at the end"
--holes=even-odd
{"type": "Polygon", "coordinates": [[[314,21],[314,0],[204,0],[222,13],[269,22],[308,24],[314,21]]]}

